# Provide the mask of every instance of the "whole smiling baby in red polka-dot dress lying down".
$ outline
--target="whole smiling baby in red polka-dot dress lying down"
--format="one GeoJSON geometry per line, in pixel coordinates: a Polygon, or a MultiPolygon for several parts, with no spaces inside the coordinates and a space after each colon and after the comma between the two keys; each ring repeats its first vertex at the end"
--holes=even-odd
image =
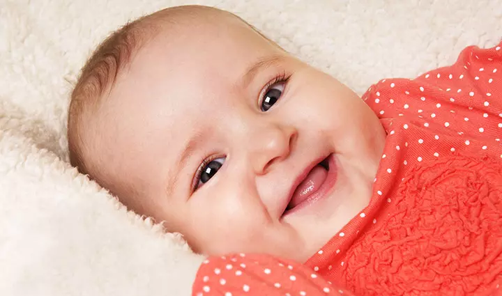
{"type": "Polygon", "coordinates": [[[84,66],[70,159],[211,256],[194,295],[494,295],[501,72],[468,47],[361,100],[231,13],[168,8],[84,66]]]}

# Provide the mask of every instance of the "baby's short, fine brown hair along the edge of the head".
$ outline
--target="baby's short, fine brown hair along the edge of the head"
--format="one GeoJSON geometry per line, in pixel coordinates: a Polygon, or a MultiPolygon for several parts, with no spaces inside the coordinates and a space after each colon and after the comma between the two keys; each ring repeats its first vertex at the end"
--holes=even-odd
{"type": "MultiPolygon", "coordinates": [[[[92,171],[93,166],[96,166],[96,160],[90,161],[91,153],[86,153],[86,150],[91,149],[89,141],[82,137],[84,129],[87,132],[94,132],[94,136],[98,137],[98,129],[96,123],[90,126],[90,118],[98,110],[102,100],[105,100],[107,95],[114,86],[117,77],[128,68],[135,54],[149,42],[164,27],[175,27],[176,25],[185,25],[186,22],[181,22],[183,19],[191,21],[200,17],[222,17],[227,15],[237,17],[238,20],[245,22],[232,13],[217,8],[208,6],[177,6],[166,8],[151,15],[140,17],[139,19],[129,22],[120,29],[114,31],[106,38],[98,48],[91,54],[91,57],[82,68],[77,84],[71,94],[70,107],[68,111],[68,149],[70,154],[70,163],[77,166],[79,171],[84,174],[91,175],[91,178],[96,178],[92,171]],[[94,127],[94,128],[93,128],[94,127]],[[85,154],[85,157],[84,157],[85,154]]],[[[276,47],[279,47],[275,42],[266,38],[254,26],[248,24],[250,28],[268,42],[271,42],[276,47]]],[[[94,153],[96,154],[96,153],[94,153]]],[[[94,155],[94,157],[98,157],[94,155]]],[[[96,180],[99,182],[99,180],[96,180]]]]}

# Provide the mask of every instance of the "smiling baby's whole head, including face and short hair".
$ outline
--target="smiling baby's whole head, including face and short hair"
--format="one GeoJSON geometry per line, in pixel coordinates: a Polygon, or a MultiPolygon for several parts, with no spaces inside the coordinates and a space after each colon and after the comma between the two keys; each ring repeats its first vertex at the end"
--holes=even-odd
{"type": "Polygon", "coordinates": [[[203,6],[107,38],[68,120],[72,164],[195,251],[295,260],[367,205],[384,138],[347,86],[203,6]]]}

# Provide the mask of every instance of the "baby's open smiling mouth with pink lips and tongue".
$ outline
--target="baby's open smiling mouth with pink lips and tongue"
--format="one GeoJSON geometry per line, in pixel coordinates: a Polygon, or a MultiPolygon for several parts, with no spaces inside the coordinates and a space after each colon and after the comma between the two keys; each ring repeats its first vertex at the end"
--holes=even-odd
{"type": "Polygon", "coordinates": [[[290,196],[283,215],[303,208],[304,205],[325,196],[328,190],[333,187],[335,180],[336,164],[333,154],[330,154],[308,171],[303,180],[300,180],[290,196]]]}

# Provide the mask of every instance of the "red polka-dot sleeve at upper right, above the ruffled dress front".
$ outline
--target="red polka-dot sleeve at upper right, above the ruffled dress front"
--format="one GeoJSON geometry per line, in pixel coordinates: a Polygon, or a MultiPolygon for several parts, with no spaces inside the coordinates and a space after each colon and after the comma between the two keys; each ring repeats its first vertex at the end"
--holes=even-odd
{"type": "Polygon", "coordinates": [[[502,139],[502,42],[466,47],[448,67],[416,79],[382,79],[363,99],[382,120],[408,118],[428,130],[478,140],[502,139]]]}

